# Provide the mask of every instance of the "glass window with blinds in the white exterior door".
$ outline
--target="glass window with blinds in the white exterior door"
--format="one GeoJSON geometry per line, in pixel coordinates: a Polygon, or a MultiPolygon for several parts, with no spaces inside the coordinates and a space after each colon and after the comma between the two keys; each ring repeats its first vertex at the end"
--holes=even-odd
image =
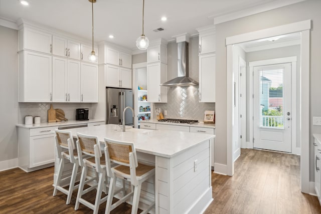
{"type": "Polygon", "coordinates": [[[259,126],[283,129],[284,68],[263,68],[259,72],[259,126]]]}

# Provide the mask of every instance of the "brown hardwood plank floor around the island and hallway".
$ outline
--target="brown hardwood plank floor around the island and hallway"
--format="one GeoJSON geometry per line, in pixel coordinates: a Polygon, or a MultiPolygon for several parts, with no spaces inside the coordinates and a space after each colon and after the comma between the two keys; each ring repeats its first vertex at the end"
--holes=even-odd
{"type": "MultiPolygon", "coordinates": [[[[212,173],[214,200],[205,213],[321,213],[317,197],[300,192],[299,158],[242,149],[234,176],[212,173]]],[[[69,205],[62,192],[52,196],[53,172],[53,167],[0,172],[0,213],[92,213],[82,204],[74,210],[77,190],[69,205]]],[[[86,197],[93,201],[94,194],[86,197]]],[[[104,213],[105,205],[100,205],[99,213],[104,213]]],[[[123,203],[111,213],[130,213],[130,208],[123,203]]]]}

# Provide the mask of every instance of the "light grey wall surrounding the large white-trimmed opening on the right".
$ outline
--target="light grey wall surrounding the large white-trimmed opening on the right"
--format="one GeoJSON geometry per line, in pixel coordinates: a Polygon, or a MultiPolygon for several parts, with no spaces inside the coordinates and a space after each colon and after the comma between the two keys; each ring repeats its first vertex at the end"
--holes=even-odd
{"type": "MultiPolygon", "coordinates": [[[[216,139],[215,161],[227,163],[227,98],[226,46],[227,37],[311,19],[310,36],[310,180],[313,180],[312,133],[321,133],[321,126],[312,125],[312,116],[321,116],[321,1],[309,0],[253,16],[216,25],[216,139]]],[[[303,86],[304,87],[304,86],[303,86]]]]}

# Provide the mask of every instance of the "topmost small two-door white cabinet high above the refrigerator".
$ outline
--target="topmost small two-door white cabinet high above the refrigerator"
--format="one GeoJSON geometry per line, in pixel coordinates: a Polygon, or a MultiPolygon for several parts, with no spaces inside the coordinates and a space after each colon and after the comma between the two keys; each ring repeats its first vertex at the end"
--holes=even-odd
{"type": "Polygon", "coordinates": [[[125,68],[131,68],[131,54],[105,47],[105,63],[125,68]]]}

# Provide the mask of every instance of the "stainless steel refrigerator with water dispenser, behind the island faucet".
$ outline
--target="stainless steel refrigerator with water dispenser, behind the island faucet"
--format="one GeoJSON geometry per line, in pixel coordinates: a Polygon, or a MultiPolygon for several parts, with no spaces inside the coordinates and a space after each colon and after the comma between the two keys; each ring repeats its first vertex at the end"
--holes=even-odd
{"type": "MultiPolygon", "coordinates": [[[[106,88],[106,124],[122,124],[122,111],[125,107],[133,108],[131,89],[106,88]]],[[[125,112],[125,125],[133,125],[130,109],[125,112]]]]}

